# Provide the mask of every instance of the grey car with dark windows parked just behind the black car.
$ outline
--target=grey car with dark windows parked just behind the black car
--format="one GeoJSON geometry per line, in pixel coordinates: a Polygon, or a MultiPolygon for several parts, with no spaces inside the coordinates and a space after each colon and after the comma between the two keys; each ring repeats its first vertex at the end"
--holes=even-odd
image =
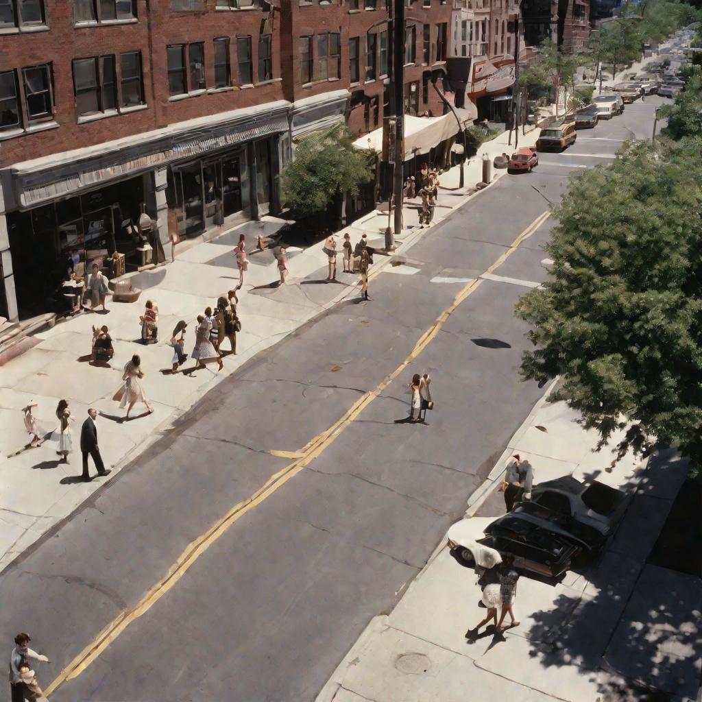
{"type": "MultiPolygon", "coordinates": [[[[589,483],[571,475],[539,483],[531,489],[531,503],[597,530],[603,538],[614,533],[624,516],[629,496],[598,480],[589,483]]],[[[521,503],[520,503],[521,504],[521,503]]]]}

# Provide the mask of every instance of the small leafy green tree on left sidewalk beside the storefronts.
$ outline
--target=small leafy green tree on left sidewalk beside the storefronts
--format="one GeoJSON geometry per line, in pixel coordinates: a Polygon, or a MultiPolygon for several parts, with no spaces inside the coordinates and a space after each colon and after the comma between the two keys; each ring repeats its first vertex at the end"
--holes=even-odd
{"type": "MultiPolygon", "coordinates": [[[[340,194],[357,195],[373,177],[369,150],[358,150],[343,124],[311,134],[283,170],[283,200],[303,217],[326,211],[340,194]]],[[[375,161],[376,153],[371,152],[375,161]]]]}

